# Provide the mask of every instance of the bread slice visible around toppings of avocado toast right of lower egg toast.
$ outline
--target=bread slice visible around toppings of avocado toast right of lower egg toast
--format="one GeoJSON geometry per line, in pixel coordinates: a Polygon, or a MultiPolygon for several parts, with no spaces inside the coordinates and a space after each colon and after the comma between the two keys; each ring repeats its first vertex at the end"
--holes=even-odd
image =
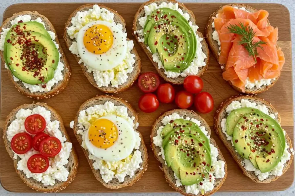
{"type": "MultiPolygon", "coordinates": [[[[165,164],[165,160],[163,160],[163,158],[161,157],[161,155],[159,155],[159,153],[161,152],[160,147],[159,146],[156,146],[153,143],[153,137],[157,136],[157,130],[159,129],[160,126],[163,126],[163,123],[162,123],[163,118],[165,116],[171,115],[173,113],[177,113],[180,116],[183,116],[184,118],[190,117],[190,118],[194,118],[196,120],[199,120],[201,122],[201,126],[204,126],[205,127],[205,129],[206,129],[206,131],[208,131],[208,134],[209,135],[211,135],[211,130],[210,130],[210,127],[207,124],[207,122],[200,115],[198,115],[197,113],[195,113],[194,111],[192,111],[192,110],[184,110],[184,109],[174,109],[174,110],[170,110],[170,111],[165,112],[164,114],[160,115],[157,118],[157,120],[153,124],[152,132],[151,132],[151,135],[150,135],[152,150],[154,152],[155,158],[158,161],[160,161],[160,163],[162,164],[162,166],[160,166],[160,169],[164,171],[166,181],[169,183],[169,185],[173,189],[175,189],[176,191],[180,192],[182,195],[195,196],[194,194],[187,193],[186,190],[185,190],[185,187],[183,185],[182,186],[179,186],[179,187],[177,187],[175,185],[176,184],[176,179],[174,177],[173,170],[171,169],[171,167],[167,167],[167,165],[165,164]]],[[[216,142],[215,142],[215,140],[213,138],[210,138],[210,143],[213,144],[218,149],[218,157],[217,157],[217,160],[223,160],[224,163],[225,163],[225,165],[224,165],[225,175],[224,175],[223,178],[216,178],[215,179],[215,181],[214,181],[214,189],[211,190],[211,191],[209,191],[209,192],[206,192],[204,194],[206,196],[212,195],[214,192],[216,192],[221,187],[221,185],[223,184],[223,182],[225,181],[225,179],[227,177],[227,164],[225,162],[225,159],[222,156],[222,153],[221,153],[220,149],[218,148],[218,146],[217,146],[217,144],[216,144],[216,142]]],[[[199,192],[198,195],[201,195],[201,192],[199,192]]]]}

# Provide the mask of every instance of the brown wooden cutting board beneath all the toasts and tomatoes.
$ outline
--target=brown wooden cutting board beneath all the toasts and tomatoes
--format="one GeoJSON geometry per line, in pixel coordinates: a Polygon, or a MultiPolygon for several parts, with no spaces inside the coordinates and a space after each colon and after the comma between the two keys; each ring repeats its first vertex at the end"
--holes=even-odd
{"type": "MultiPolygon", "coordinates": [[[[120,93],[118,97],[128,100],[139,112],[138,130],[144,136],[149,153],[149,167],[143,175],[142,179],[136,182],[132,187],[125,187],[119,190],[107,189],[99,183],[91,172],[89,164],[83,154],[83,151],[78,144],[73,130],[69,128],[69,123],[74,119],[74,116],[79,106],[89,98],[98,94],[102,94],[94,88],[86,79],[81,71],[80,66],[75,61],[71,53],[65,46],[63,40],[63,32],[65,22],[68,16],[79,6],[83,4],[76,3],[51,3],[51,4],[14,4],[9,6],[5,12],[3,19],[7,19],[14,13],[20,11],[38,11],[45,15],[55,27],[61,46],[68,58],[72,68],[72,78],[65,90],[58,96],[42,102],[55,108],[62,116],[68,134],[71,136],[73,146],[76,148],[79,157],[78,175],[63,193],[82,193],[82,192],[174,192],[165,181],[163,172],[159,168],[159,162],[155,160],[152,150],[150,149],[150,130],[155,119],[163,112],[177,108],[175,104],[160,104],[157,111],[147,114],[139,110],[137,102],[143,94],[135,85],[127,91],[120,93]]],[[[128,37],[132,36],[132,22],[134,15],[140,3],[112,3],[105,4],[106,6],[117,10],[126,21],[126,29],[128,37]]],[[[186,6],[191,9],[196,16],[196,23],[199,26],[199,31],[204,34],[204,29],[207,24],[207,19],[210,14],[218,9],[223,4],[219,3],[187,3],[186,6]]],[[[278,26],[279,41],[278,45],[282,48],[286,63],[283,67],[282,74],[276,85],[270,90],[258,95],[267,101],[271,102],[278,110],[282,117],[281,125],[288,133],[291,140],[294,140],[293,135],[293,92],[292,92],[292,62],[291,62],[291,33],[290,33],[290,14],[288,9],[281,4],[250,4],[256,9],[265,9],[269,11],[269,21],[273,26],[278,26]]],[[[135,42],[135,47],[140,55],[142,63],[142,72],[155,71],[154,66],[142,51],[140,46],[135,42]]],[[[8,78],[7,70],[4,68],[4,63],[1,66],[1,114],[0,114],[0,129],[4,127],[6,116],[17,106],[24,103],[32,103],[32,99],[21,95],[12,82],[8,78]]],[[[216,59],[211,55],[209,68],[202,76],[204,81],[204,91],[212,94],[214,98],[214,110],[208,114],[201,116],[207,121],[212,129],[212,137],[216,140],[222,154],[227,162],[228,175],[219,191],[279,191],[285,190],[291,186],[294,180],[294,161],[289,170],[275,182],[268,185],[261,185],[252,182],[248,177],[242,174],[242,171],[235,163],[234,159],[228,153],[223,143],[213,130],[213,115],[219,104],[226,98],[237,95],[238,93],[222,79],[222,71],[216,59]]],[[[176,89],[180,89],[178,86],[176,89]]],[[[193,109],[193,108],[192,108],[193,109]]],[[[3,129],[1,129],[3,130],[3,129]]],[[[2,131],[0,135],[2,138],[2,131]]],[[[0,140],[0,178],[1,185],[8,191],[12,192],[35,192],[25,185],[19,178],[13,167],[13,161],[5,150],[3,140],[0,140]]]]}

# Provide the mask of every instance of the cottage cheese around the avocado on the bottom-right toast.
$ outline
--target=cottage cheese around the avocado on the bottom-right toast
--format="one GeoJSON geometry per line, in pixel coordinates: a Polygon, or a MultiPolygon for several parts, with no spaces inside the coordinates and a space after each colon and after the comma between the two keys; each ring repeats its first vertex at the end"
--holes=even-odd
{"type": "MultiPolygon", "coordinates": [[[[245,99],[242,99],[241,101],[233,101],[232,103],[230,103],[226,108],[226,112],[228,114],[230,114],[230,112],[232,110],[235,110],[238,108],[245,108],[245,107],[256,108],[256,109],[260,110],[261,112],[269,115],[273,119],[275,119],[276,116],[278,115],[278,113],[275,113],[275,114],[270,113],[268,111],[268,108],[266,107],[266,105],[263,105],[263,104],[257,105],[255,102],[250,102],[245,99]]],[[[226,135],[227,140],[230,140],[232,142],[232,136],[228,135],[226,132],[226,118],[223,118],[221,120],[221,128],[222,128],[222,133],[224,133],[226,135]]],[[[286,135],[285,131],[284,131],[284,135],[286,135]]],[[[234,146],[233,142],[232,142],[232,146],[234,146]]],[[[288,149],[289,149],[289,146],[286,143],[286,148],[284,150],[284,154],[281,158],[281,161],[270,172],[262,173],[259,169],[255,168],[254,165],[251,163],[251,161],[248,159],[244,159],[241,162],[241,164],[245,167],[246,170],[255,172],[255,175],[258,177],[259,180],[265,180],[269,175],[280,176],[283,174],[283,168],[284,168],[285,163],[288,160],[290,160],[290,157],[291,157],[291,153],[289,153],[288,149]]],[[[290,149],[290,151],[294,152],[292,148],[290,149]]]]}

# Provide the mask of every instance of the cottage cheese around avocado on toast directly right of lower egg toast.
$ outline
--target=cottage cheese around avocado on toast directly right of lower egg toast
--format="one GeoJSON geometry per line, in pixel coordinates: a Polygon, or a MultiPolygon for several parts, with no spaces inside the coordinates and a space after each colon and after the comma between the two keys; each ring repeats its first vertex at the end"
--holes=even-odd
{"type": "MultiPolygon", "coordinates": [[[[184,119],[183,116],[180,116],[177,113],[173,113],[171,115],[165,116],[163,118],[163,120],[162,120],[162,123],[165,126],[171,120],[176,120],[176,119],[180,119],[180,118],[184,119]]],[[[208,134],[208,132],[206,131],[205,127],[204,126],[201,126],[201,122],[199,120],[196,120],[194,118],[189,118],[189,117],[186,117],[185,119],[186,120],[190,120],[190,121],[196,123],[200,127],[201,131],[205,135],[208,134]]],[[[164,128],[164,126],[160,126],[159,129],[157,130],[157,135],[155,137],[153,137],[153,143],[156,146],[159,146],[161,148],[161,152],[159,153],[159,155],[162,155],[162,158],[165,160],[164,150],[163,150],[163,147],[162,147],[163,139],[160,136],[160,133],[161,133],[162,129],[164,128]]],[[[207,137],[210,138],[210,135],[207,135],[207,137]]],[[[184,186],[187,193],[198,195],[198,193],[200,191],[204,191],[204,192],[211,191],[211,190],[214,189],[214,181],[215,181],[215,179],[216,178],[222,178],[222,177],[224,177],[224,175],[225,175],[225,170],[224,170],[225,163],[222,160],[217,160],[217,157],[218,157],[218,149],[214,145],[212,145],[211,143],[210,143],[210,148],[211,148],[212,168],[211,168],[211,170],[209,172],[209,175],[212,176],[211,179],[209,179],[210,177],[209,177],[209,175],[207,175],[206,178],[203,181],[203,185],[194,184],[194,185],[190,185],[190,186],[184,186]]],[[[181,184],[181,180],[178,179],[178,177],[175,175],[175,173],[174,173],[174,177],[176,179],[175,185],[177,187],[183,186],[181,184]]]]}

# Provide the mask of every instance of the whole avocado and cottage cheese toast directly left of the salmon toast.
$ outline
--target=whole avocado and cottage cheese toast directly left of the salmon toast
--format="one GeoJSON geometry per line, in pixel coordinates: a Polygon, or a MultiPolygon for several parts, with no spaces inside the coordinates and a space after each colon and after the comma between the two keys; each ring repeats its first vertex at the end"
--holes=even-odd
{"type": "Polygon", "coordinates": [[[209,49],[192,11],[175,0],[150,0],[135,14],[133,35],[166,81],[182,84],[208,68],[209,49]]]}

